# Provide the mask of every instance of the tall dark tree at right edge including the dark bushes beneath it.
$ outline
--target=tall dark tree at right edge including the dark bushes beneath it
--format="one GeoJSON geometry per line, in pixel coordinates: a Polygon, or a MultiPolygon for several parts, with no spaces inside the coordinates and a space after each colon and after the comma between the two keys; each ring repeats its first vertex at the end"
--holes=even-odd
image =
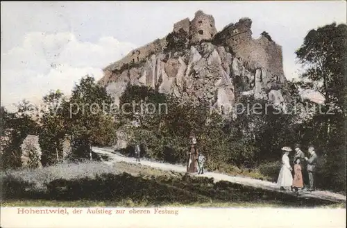
{"type": "Polygon", "coordinates": [[[346,24],[312,29],[296,51],[302,88],[319,91],[324,104],[305,121],[303,140],[317,148],[321,186],[346,190],[346,24]],[[326,113],[332,113],[328,115],[326,113]]]}

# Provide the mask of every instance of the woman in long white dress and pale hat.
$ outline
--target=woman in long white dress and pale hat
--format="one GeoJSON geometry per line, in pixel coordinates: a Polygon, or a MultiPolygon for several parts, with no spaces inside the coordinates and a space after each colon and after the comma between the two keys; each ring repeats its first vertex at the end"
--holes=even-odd
{"type": "Polygon", "coordinates": [[[280,187],[280,190],[290,190],[291,184],[293,184],[293,176],[291,175],[291,165],[289,163],[289,152],[291,152],[290,147],[283,147],[282,152],[282,168],[280,174],[278,175],[277,186],[280,187]]]}

